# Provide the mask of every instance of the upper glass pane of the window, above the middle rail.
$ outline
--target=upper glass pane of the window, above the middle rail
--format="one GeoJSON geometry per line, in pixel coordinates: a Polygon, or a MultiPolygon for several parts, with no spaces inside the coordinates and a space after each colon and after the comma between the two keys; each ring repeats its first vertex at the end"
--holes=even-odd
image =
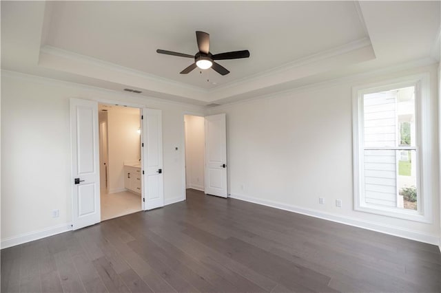
{"type": "Polygon", "coordinates": [[[363,96],[365,147],[415,146],[415,87],[363,96]]]}

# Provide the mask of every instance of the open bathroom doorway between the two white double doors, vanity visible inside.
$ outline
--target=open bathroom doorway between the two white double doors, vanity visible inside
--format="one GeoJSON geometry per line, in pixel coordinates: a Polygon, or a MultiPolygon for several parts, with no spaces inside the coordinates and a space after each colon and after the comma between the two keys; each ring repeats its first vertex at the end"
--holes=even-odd
{"type": "Polygon", "coordinates": [[[142,210],[141,111],[99,104],[101,221],[142,210]]]}

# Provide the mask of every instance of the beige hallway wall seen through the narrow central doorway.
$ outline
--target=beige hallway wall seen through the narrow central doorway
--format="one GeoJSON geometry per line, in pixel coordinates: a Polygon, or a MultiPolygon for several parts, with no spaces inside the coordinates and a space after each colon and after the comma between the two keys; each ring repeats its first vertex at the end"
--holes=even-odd
{"type": "Polygon", "coordinates": [[[205,119],[185,115],[185,171],[187,188],[204,190],[205,119]]]}

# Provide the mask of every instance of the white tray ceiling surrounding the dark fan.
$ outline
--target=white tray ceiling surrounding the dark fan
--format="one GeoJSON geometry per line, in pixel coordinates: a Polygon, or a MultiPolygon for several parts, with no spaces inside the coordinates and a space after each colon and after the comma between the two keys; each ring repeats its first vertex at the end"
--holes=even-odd
{"type": "Polygon", "coordinates": [[[1,68],[198,105],[439,58],[439,1],[1,1],[1,68]],[[195,31],[231,72],[179,74],[195,31]],[[316,78],[314,78],[316,77],[316,78]],[[208,80],[208,81],[207,81],[208,80]]]}

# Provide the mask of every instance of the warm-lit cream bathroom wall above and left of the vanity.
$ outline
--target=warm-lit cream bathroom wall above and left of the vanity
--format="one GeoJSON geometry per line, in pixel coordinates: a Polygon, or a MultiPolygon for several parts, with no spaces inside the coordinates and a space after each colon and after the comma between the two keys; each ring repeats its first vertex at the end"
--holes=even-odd
{"type": "Polygon", "coordinates": [[[141,127],[139,109],[112,107],[107,110],[109,138],[109,193],[125,191],[124,162],[138,162],[141,127]]]}

